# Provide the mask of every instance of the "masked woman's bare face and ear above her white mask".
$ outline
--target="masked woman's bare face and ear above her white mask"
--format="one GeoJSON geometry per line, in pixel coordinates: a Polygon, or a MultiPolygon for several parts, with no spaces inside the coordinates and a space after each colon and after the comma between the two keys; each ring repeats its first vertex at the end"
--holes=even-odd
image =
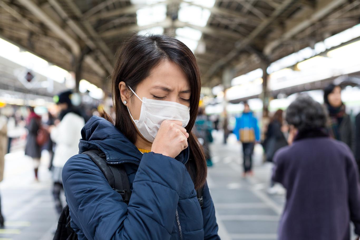
{"type": "MultiPolygon", "coordinates": [[[[131,91],[126,92],[125,83],[119,84],[122,101],[125,93],[127,96],[131,91]],[[123,86],[121,86],[123,84],[123,86]]],[[[134,90],[134,89],[133,89],[134,90]]],[[[150,75],[141,81],[136,87],[136,94],[143,99],[156,99],[170,102],[177,102],[190,107],[191,88],[185,72],[176,63],[163,61],[155,67],[150,75]]],[[[129,99],[129,98],[127,98],[129,99]]],[[[129,108],[132,117],[138,120],[141,111],[141,101],[133,94],[126,106],[129,108]]]]}

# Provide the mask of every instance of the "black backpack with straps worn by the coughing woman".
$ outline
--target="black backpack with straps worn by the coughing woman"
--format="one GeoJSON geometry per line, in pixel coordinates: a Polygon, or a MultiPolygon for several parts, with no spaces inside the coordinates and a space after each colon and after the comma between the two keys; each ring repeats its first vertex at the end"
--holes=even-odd
{"type": "MultiPolygon", "coordinates": [[[[88,155],[98,165],[112,189],[121,195],[124,203],[129,204],[131,197],[130,183],[122,164],[115,166],[107,164],[105,154],[99,150],[89,150],[82,154],[88,155]]],[[[202,195],[203,188],[201,191],[197,191],[201,209],[204,203],[202,195]]],[[[53,240],[77,240],[77,234],[71,228],[70,220],[69,206],[66,205],[60,214],[53,240]]]]}

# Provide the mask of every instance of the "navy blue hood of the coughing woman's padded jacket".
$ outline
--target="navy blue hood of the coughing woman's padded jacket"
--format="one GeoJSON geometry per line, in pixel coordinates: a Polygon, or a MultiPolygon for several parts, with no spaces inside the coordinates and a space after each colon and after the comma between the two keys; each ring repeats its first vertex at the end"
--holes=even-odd
{"type": "MultiPolygon", "coordinates": [[[[93,116],[81,130],[79,154],[90,149],[101,150],[107,163],[132,162],[139,164],[143,154],[112,123],[102,117],[93,116]]],[[[189,148],[182,151],[176,160],[185,163],[189,148]]]]}

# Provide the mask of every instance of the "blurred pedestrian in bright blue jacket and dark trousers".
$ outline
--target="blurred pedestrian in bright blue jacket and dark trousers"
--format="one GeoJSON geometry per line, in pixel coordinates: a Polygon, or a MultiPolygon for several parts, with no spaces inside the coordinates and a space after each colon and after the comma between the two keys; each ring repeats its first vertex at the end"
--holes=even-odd
{"type": "Polygon", "coordinates": [[[240,117],[236,118],[234,134],[238,141],[243,145],[243,165],[244,173],[253,175],[252,172],[252,154],[256,142],[260,141],[260,129],[257,123],[257,119],[253,116],[253,112],[250,110],[249,104],[244,103],[244,111],[240,117]]]}

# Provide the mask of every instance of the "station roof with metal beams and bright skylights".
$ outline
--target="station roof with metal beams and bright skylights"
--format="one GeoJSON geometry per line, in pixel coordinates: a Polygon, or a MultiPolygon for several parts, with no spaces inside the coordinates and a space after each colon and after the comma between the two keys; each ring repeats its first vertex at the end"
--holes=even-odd
{"type": "Polygon", "coordinates": [[[85,54],[82,78],[102,87],[123,38],[161,28],[191,45],[203,85],[215,86],[224,67],[255,70],[359,15],[360,0],[1,0],[0,37],[68,71],[85,54]]]}

